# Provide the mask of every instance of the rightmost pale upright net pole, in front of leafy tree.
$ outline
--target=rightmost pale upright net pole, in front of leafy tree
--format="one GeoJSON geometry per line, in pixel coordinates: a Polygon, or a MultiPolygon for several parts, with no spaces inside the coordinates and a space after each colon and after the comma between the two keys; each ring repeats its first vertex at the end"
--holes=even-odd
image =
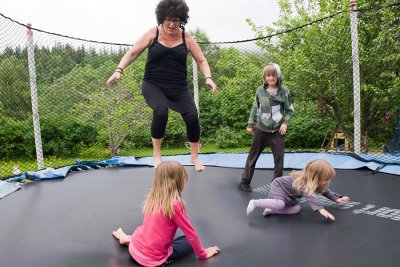
{"type": "Polygon", "coordinates": [[[358,29],[357,29],[356,0],[350,0],[350,29],[353,57],[353,90],[354,90],[354,153],[361,153],[361,97],[360,97],[360,61],[358,58],[358,29]]]}

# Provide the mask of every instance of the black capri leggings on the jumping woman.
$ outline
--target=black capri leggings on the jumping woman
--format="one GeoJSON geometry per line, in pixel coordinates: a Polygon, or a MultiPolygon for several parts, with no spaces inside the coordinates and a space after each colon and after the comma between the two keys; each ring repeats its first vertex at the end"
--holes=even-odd
{"type": "Polygon", "coordinates": [[[147,105],[153,110],[153,121],[151,122],[151,136],[153,138],[161,139],[164,137],[168,122],[168,109],[170,108],[180,113],[185,121],[189,142],[196,143],[199,141],[199,116],[189,89],[176,95],[167,95],[159,86],[143,81],[142,93],[147,105]]]}

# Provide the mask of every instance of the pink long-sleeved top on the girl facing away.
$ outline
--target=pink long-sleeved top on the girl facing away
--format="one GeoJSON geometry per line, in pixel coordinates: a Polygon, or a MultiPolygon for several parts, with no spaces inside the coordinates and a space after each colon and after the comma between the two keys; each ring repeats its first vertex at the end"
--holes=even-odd
{"type": "Polygon", "coordinates": [[[185,234],[194,252],[200,259],[207,252],[187,217],[183,204],[174,203],[174,215],[168,218],[160,213],[144,215],[143,224],[136,228],[129,243],[131,256],[143,266],[158,266],[172,254],[172,241],[177,228],[185,234]]]}

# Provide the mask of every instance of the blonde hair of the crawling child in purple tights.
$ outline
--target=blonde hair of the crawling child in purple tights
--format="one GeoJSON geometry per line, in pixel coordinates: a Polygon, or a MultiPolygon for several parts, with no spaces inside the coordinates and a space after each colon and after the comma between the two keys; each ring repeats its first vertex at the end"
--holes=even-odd
{"type": "Polygon", "coordinates": [[[319,183],[324,180],[331,180],[335,175],[335,169],[322,159],[310,161],[302,171],[294,171],[290,174],[294,178],[293,188],[299,193],[304,190],[307,195],[325,192],[329,183],[324,187],[320,186],[319,183]]]}

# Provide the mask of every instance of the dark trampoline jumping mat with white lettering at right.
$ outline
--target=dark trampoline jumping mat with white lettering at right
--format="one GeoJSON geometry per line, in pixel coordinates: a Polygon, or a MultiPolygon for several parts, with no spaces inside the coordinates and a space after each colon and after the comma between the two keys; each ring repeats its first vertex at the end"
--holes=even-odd
{"type": "MultiPolygon", "coordinates": [[[[337,170],[331,189],[352,202],[327,202],[336,217],[329,222],[304,202],[296,215],[246,216],[248,201],[265,197],[272,170],[257,169],[254,192],[244,193],[240,168],[185,168],[191,222],[203,245],[221,254],[200,261],[192,253],[172,266],[400,266],[398,176],[337,170]]],[[[153,168],[131,166],[25,185],[0,201],[1,266],[136,266],[111,232],[141,224],[153,178],[153,168]]]]}

